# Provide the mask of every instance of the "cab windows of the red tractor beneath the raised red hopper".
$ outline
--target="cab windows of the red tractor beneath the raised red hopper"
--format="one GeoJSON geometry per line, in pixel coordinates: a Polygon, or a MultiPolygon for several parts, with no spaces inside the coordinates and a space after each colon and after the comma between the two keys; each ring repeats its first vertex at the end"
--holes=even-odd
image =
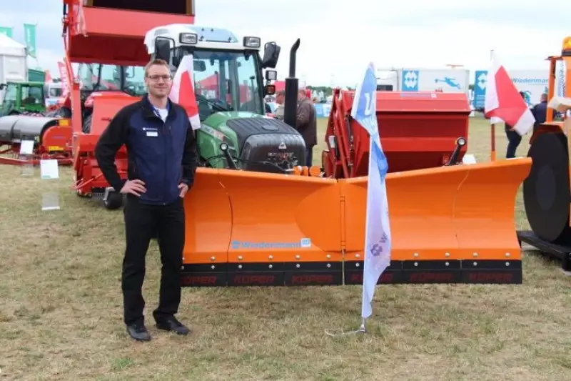
{"type": "Polygon", "coordinates": [[[124,91],[133,97],[146,93],[143,66],[81,64],[81,91],[124,91]]]}

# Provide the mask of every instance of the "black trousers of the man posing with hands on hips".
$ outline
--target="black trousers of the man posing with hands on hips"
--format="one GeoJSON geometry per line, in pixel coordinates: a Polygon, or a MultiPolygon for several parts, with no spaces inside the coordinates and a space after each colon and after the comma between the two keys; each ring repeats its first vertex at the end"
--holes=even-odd
{"type": "Polygon", "coordinates": [[[183,199],[168,205],[148,205],[128,194],[125,207],[126,250],[121,288],[123,320],[127,325],[143,322],[142,287],[145,257],[152,237],[158,238],[161,252],[161,289],[155,318],[175,315],[181,302],[181,266],[184,248],[183,199]]]}

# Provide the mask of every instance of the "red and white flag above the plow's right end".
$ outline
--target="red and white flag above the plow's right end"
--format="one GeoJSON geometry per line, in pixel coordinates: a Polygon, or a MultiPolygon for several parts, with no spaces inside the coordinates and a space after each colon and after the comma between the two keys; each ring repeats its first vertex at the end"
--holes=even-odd
{"type": "Polygon", "coordinates": [[[487,72],[485,117],[492,123],[500,119],[510,124],[520,136],[527,134],[535,124],[531,110],[493,51],[492,67],[487,72]]]}

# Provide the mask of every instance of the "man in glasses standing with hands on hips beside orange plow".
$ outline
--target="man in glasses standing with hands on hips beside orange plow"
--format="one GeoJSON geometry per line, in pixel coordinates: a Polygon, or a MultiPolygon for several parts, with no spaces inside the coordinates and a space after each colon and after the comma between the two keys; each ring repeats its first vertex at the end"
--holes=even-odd
{"type": "Polygon", "coordinates": [[[107,182],[126,194],[123,321],[128,334],[142,341],[151,340],[144,323],[141,288],[148,244],[155,234],[163,264],[158,307],[153,311],[156,327],[179,335],[189,332],[174,315],[181,302],[183,198],[193,185],[197,167],[196,140],[188,114],[168,99],[172,77],[166,61],[154,59],[146,65],[145,84],[148,94],[119,110],[95,149],[107,182]],[[126,182],[115,165],[116,152],[123,144],[128,152],[126,182]]]}

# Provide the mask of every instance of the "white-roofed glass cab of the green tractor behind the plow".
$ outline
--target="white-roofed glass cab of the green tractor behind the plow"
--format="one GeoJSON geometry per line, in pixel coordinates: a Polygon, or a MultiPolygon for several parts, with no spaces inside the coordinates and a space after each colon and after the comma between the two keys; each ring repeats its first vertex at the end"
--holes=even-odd
{"type": "Polygon", "coordinates": [[[266,44],[264,59],[261,39],[238,39],[231,31],[192,24],[159,26],[149,31],[145,44],[149,54],[167,61],[173,74],[184,56],[193,56],[193,80],[201,121],[216,112],[248,112],[265,115],[264,97],[275,92],[269,82],[276,71],[279,46],[266,44]],[[269,57],[269,58],[268,58],[269,57]]]}

